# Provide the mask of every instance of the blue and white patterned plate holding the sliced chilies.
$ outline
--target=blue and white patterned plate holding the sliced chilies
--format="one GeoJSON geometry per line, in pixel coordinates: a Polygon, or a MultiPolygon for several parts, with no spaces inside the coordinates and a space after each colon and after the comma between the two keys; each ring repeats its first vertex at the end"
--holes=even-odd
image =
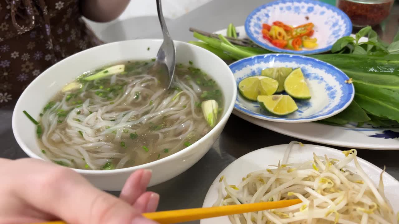
{"type": "Polygon", "coordinates": [[[294,54],[318,54],[330,51],[332,45],[341,37],[352,32],[352,22],[340,9],[315,0],[278,0],[259,6],[245,21],[245,31],[257,45],[270,51],[294,54]],[[318,48],[293,51],[280,49],[265,40],[262,35],[262,24],[281,21],[291,26],[312,22],[318,48]]]}

